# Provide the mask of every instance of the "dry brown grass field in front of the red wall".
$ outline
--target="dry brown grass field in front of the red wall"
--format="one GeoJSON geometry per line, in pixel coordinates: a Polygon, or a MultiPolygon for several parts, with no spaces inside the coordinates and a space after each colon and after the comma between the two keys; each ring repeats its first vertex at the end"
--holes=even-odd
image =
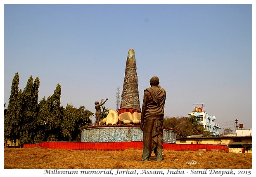
{"type": "Polygon", "coordinates": [[[4,168],[11,169],[251,169],[252,154],[220,151],[163,150],[164,160],[141,163],[141,149],[88,151],[33,148],[6,148],[4,168]],[[189,161],[196,164],[188,165],[189,161]]]}

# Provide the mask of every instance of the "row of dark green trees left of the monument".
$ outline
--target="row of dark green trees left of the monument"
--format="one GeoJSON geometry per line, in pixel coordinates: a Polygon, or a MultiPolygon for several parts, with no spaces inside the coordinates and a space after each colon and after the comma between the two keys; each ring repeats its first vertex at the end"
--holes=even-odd
{"type": "Polygon", "coordinates": [[[22,147],[25,143],[42,141],[80,141],[80,131],[90,126],[92,112],[85,106],[61,106],[61,86],[53,95],[38,103],[40,81],[29,77],[24,90],[19,90],[19,74],[12,80],[9,105],[5,111],[5,142],[9,140],[22,147]]]}

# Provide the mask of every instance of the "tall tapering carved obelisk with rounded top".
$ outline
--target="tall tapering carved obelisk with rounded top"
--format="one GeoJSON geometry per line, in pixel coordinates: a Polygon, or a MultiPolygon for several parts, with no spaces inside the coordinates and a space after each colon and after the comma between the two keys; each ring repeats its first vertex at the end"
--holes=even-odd
{"type": "Polygon", "coordinates": [[[128,51],[126,59],[126,71],[123,81],[122,99],[119,114],[123,112],[141,112],[140,98],[138,88],[138,77],[135,60],[135,52],[133,49],[128,51]]]}

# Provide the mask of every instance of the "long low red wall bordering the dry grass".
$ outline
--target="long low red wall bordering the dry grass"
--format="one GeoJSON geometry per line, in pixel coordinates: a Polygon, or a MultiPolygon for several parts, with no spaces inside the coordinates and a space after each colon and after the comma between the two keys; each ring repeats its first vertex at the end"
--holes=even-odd
{"type": "MultiPolygon", "coordinates": [[[[142,141],[135,142],[40,142],[40,144],[24,144],[23,147],[42,147],[51,149],[72,149],[72,150],[125,150],[142,149],[142,141]]],[[[218,144],[173,144],[164,143],[164,149],[181,150],[199,150],[205,149],[211,151],[217,149],[228,151],[225,145],[218,144]]]]}

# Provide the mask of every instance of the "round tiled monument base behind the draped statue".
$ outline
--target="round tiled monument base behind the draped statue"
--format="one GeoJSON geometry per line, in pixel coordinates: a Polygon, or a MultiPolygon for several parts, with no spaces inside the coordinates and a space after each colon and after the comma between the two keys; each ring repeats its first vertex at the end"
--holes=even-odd
{"type": "MultiPolygon", "coordinates": [[[[163,141],[176,143],[176,133],[170,128],[163,128],[163,141]]],[[[90,126],[81,131],[81,142],[131,142],[142,141],[140,126],[113,125],[90,126]]]]}

